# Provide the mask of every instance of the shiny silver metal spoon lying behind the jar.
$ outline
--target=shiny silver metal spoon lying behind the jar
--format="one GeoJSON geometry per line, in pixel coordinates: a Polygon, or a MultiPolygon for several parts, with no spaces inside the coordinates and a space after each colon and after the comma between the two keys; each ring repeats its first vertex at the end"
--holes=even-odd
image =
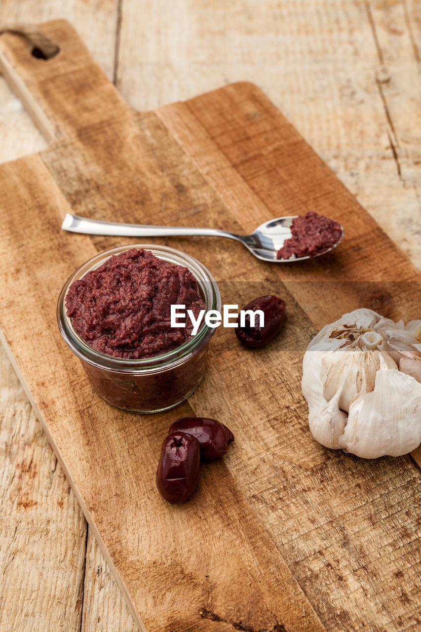
{"type": "MultiPolygon", "coordinates": [[[[146,224],[123,224],[123,222],[104,222],[99,219],[88,219],[66,213],[61,228],[72,233],[85,233],[92,235],[114,235],[121,237],[164,237],[164,236],[193,236],[206,235],[214,237],[229,237],[241,241],[248,250],[262,261],[271,261],[276,264],[284,264],[291,261],[302,261],[310,257],[296,257],[290,259],[277,259],[276,253],[282,248],[284,241],[291,237],[290,226],[296,216],[278,217],[260,224],[250,235],[238,235],[216,228],[188,228],[187,226],[147,226],[146,224]]],[[[335,248],[343,238],[343,229],[338,243],[323,252],[314,255],[324,255],[335,248]]]]}

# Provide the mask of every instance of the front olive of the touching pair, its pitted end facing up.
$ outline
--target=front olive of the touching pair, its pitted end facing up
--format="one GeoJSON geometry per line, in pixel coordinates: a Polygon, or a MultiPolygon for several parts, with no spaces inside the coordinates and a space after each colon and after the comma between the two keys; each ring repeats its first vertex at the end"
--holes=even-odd
{"type": "Polygon", "coordinates": [[[197,483],[200,448],[196,437],[173,432],[162,444],[156,486],[166,501],[184,502],[197,483]]]}

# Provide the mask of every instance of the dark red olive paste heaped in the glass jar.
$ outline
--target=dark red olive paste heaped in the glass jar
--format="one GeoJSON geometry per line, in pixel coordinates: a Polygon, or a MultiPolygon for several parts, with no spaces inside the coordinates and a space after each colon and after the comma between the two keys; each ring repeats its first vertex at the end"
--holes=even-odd
{"type": "Polygon", "coordinates": [[[74,281],[66,296],[73,328],[90,346],[116,358],[150,358],[177,348],[193,325],[171,328],[171,305],[197,318],[205,303],[192,272],[149,250],[113,255],[74,281]]]}

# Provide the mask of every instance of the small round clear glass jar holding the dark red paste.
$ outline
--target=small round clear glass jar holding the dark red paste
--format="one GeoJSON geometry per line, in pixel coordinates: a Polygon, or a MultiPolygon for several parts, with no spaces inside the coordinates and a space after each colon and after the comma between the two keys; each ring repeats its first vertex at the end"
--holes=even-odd
{"type": "Polygon", "coordinates": [[[152,358],[126,359],[101,353],[87,344],[73,329],[66,313],[66,294],[73,281],[82,279],[112,255],[131,248],[144,248],[156,257],[192,272],[205,310],[221,311],[221,295],[209,270],[180,250],[157,245],[130,245],[113,248],[81,265],[61,290],[57,320],[61,335],[78,356],[94,390],[109,404],[137,413],[156,413],[173,408],[196,389],[205,372],[209,341],[215,329],[203,319],[195,336],[176,349],[152,358]]]}

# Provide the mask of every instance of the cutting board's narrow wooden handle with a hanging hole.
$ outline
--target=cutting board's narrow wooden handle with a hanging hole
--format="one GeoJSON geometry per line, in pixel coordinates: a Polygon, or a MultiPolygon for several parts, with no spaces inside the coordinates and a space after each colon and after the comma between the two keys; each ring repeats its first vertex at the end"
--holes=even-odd
{"type": "Polygon", "coordinates": [[[0,71],[48,142],[83,142],[93,125],[101,132],[131,112],[68,21],[36,27],[59,47],[49,59],[35,56],[34,41],[10,30],[0,37],[0,71]]]}

